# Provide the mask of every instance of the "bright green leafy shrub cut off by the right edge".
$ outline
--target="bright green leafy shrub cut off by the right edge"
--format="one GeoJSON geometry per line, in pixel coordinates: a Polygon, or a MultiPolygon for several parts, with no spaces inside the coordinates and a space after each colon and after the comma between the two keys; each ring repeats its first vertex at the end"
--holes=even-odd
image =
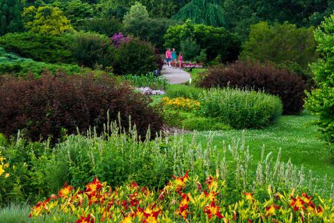
{"type": "Polygon", "coordinates": [[[305,107],[319,118],[317,124],[326,140],[334,143],[334,15],[315,31],[321,59],[312,64],[317,89],[307,93],[305,107]]]}

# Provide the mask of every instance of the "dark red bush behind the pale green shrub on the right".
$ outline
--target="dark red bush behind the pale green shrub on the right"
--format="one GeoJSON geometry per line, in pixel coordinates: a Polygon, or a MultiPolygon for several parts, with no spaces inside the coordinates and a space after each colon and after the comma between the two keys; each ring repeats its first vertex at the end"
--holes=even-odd
{"type": "Polygon", "coordinates": [[[227,66],[209,68],[207,74],[198,82],[198,86],[232,86],[238,88],[264,90],[278,95],[283,102],[283,114],[299,114],[303,109],[305,81],[285,69],[278,69],[270,64],[237,61],[227,66]]]}

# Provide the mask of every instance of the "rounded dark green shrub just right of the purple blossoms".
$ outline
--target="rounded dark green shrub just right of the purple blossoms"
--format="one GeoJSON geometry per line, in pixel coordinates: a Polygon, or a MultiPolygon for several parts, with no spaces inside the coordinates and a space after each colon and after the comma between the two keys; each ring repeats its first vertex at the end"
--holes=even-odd
{"type": "Polygon", "coordinates": [[[157,69],[158,58],[154,47],[138,38],[123,41],[116,54],[113,68],[118,75],[143,75],[157,69]]]}

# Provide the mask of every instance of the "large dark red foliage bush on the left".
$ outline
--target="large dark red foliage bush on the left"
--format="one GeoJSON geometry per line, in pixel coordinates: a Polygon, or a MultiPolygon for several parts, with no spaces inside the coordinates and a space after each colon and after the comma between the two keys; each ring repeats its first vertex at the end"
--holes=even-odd
{"type": "Polygon", "coordinates": [[[145,137],[149,125],[152,133],[163,125],[159,110],[148,104],[149,98],[111,77],[70,77],[60,72],[44,73],[40,79],[0,77],[0,132],[12,136],[24,130],[36,141],[58,139],[62,128],[68,134],[94,126],[101,131],[109,110],[110,121],[120,112],[125,128],[131,116],[138,134],[145,137]]]}

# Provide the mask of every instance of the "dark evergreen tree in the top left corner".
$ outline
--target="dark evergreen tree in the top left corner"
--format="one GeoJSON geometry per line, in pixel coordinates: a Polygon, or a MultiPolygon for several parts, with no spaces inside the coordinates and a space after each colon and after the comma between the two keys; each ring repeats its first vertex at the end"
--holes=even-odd
{"type": "Polygon", "coordinates": [[[19,0],[0,0],[0,35],[22,31],[22,10],[19,0]]]}

